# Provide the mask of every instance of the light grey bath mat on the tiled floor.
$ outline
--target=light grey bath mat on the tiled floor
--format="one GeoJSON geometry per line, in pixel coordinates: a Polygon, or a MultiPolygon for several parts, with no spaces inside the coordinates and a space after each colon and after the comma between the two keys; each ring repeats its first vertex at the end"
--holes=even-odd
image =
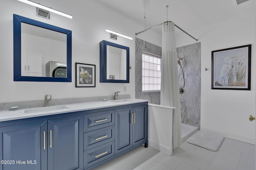
{"type": "Polygon", "coordinates": [[[194,135],[188,138],[187,143],[191,143],[208,150],[217,151],[223,139],[224,137],[222,135],[218,135],[216,133],[197,131],[194,135]]]}

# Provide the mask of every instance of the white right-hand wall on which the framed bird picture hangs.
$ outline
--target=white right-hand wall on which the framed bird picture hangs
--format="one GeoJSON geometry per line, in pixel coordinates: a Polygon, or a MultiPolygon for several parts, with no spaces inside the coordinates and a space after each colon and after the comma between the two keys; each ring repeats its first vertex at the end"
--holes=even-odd
{"type": "MultiPolygon", "coordinates": [[[[201,42],[201,130],[215,131],[232,139],[255,143],[255,12],[219,21],[191,33],[201,42]],[[211,90],[211,52],[252,44],[251,90],[211,90]],[[205,71],[205,68],[208,68],[205,71]]],[[[195,43],[184,34],[176,36],[177,47],[195,43]]]]}

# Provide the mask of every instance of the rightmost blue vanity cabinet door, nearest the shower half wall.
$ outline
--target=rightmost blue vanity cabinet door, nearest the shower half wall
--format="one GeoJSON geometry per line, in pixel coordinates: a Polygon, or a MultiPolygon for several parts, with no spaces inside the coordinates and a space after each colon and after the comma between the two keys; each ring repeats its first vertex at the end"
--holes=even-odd
{"type": "Polygon", "coordinates": [[[146,141],[146,105],[134,106],[133,108],[133,127],[132,127],[132,145],[146,141]]]}

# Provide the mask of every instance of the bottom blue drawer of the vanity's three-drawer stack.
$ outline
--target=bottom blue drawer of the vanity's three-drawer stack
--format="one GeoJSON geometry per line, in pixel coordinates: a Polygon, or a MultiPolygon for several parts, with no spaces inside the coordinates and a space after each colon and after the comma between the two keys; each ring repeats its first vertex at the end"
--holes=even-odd
{"type": "Polygon", "coordinates": [[[84,152],[84,169],[114,156],[114,141],[84,152]]]}

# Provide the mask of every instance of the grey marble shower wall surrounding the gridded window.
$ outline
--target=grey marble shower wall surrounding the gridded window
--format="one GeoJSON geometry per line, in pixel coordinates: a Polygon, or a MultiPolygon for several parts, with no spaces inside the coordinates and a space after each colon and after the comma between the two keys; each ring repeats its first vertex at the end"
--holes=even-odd
{"type": "Polygon", "coordinates": [[[162,56],[162,48],[135,38],[135,98],[148,100],[151,104],[160,104],[160,92],[142,93],[142,51],[162,56]]]}

